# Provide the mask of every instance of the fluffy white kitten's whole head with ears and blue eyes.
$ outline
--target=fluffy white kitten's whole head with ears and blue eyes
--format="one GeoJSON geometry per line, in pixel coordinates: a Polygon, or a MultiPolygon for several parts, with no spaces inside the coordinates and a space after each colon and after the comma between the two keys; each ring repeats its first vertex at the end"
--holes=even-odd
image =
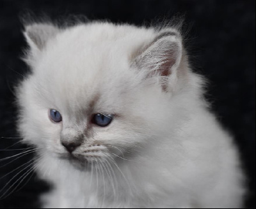
{"type": "Polygon", "coordinates": [[[17,97],[26,143],[92,162],[154,147],[186,115],[196,86],[176,29],[31,24],[24,35],[32,73],[17,97]]]}

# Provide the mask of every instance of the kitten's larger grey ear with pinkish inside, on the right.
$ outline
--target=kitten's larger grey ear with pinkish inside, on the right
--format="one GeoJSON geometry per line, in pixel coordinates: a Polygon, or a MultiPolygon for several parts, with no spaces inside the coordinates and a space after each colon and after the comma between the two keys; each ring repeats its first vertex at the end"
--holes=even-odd
{"type": "MultiPolygon", "coordinates": [[[[156,38],[134,59],[137,68],[145,71],[146,77],[162,76],[174,83],[182,57],[182,38],[179,32],[170,29],[160,31],[156,38]]],[[[164,90],[167,89],[162,83],[164,90]]]]}

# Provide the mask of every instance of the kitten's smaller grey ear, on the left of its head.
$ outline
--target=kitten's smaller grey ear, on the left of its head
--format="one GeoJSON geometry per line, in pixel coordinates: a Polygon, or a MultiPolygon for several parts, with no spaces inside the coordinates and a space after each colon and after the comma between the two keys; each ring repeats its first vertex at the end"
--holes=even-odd
{"type": "Polygon", "coordinates": [[[26,61],[35,61],[40,52],[45,48],[47,41],[54,38],[58,32],[60,32],[60,29],[52,24],[27,25],[25,27],[24,36],[30,50],[26,61]]]}

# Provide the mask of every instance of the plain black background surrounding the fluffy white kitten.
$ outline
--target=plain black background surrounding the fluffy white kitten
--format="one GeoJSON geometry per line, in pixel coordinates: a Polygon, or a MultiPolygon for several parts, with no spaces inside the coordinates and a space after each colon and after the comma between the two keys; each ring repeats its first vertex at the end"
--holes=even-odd
{"type": "MultiPolygon", "coordinates": [[[[28,154],[13,162],[15,157],[1,161],[22,152],[3,149],[19,141],[10,139],[19,137],[15,131],[17,110],[12,91],[13,85],[28,71],[19,59],[22,48],[26,47],[20,15],[28,10],[36,16],[45,13],[54,20],[72,14],[136,25],[170,19],[177,13],[185,15],[186,27],[190,28],[186,44],[193,69],[209,79],[207,99],[221,123],[235,136],[248,175],[246,206],[255,207],[255,1],[245,0],[0,0],[0,191],[14,177],[0,196],[4,192],[9,194],[18,184],[15,181],[30,167],[24,171],[21,171],[24,167],[13,169],[33,157],[28,154]],[[10,171],[13,173],[6,175],[10,171]]],[[[26,146],[17,143],[8,149],[20,148],[26,146]]],[[[35,174],[29,175],[16,192],[0,200],[0,208],[38,207],[38,195],[47,189],[35,174]]]]}

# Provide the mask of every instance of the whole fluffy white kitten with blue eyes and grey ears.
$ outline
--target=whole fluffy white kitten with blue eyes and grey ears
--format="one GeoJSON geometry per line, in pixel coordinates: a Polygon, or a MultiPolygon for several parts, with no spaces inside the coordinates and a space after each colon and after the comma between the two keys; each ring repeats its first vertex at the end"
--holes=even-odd
{"type": "Polygon", "coordinates": [[[19,131],[45,208],[239,208],[244,175],[175,27],[26,26],[19,131]]]}

